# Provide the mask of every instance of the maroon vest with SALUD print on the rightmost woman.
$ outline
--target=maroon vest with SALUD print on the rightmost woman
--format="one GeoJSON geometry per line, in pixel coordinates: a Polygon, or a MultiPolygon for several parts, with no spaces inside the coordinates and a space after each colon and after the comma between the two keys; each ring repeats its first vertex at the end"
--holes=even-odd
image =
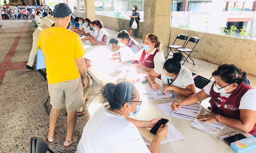
{"type": "MultiPolygon", "coordinates": [[[[240,119],[240,111],[239,111],[239,105],[241,98],[245,94],[246,91],[249,89],[253,89],[252,87],[246,85],[245,83],[242,83],[239,85],[233,92],[232,94],[227,98],[225,102],[221,104],[221,106],[218,108],[215,105],[215,100],[216,98],[219,97],[220,93],[217,93],[213,90],[213,86],[210,90],[210,104],[211,104],[211,111],[215,114],[219,114],[228,118],[235,118],[235,119],[240,119]]],[[[253,129],[249,132],[251,135],[256,134],[256,123],[254,124],[253,129]]]]}

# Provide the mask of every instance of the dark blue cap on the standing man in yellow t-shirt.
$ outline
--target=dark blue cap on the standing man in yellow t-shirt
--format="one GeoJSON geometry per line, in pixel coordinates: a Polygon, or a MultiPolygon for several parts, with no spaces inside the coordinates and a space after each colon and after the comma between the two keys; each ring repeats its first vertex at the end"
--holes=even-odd
{"type": "Polygon", "coordinates": [[[53,9],[54,17],[66,17],[66,16],[69,16],[70,14],[72,16],[75,16],[67,4],[59,3],[54,6],[54,9],[53,9]]]}

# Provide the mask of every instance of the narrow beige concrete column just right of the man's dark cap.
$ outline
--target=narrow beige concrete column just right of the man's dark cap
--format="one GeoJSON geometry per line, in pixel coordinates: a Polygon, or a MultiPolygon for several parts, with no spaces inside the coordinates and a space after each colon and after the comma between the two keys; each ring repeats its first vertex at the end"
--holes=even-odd
{"type": "Polygon", "coordinates": [[[95,20],[95,0],[84,0],[84,13],[85,18],[95,20]]]}

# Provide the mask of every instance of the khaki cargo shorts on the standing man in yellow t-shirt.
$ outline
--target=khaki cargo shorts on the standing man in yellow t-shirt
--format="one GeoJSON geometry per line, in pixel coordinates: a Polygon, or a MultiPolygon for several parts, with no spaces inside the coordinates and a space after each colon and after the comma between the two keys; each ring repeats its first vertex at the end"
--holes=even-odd
{"type": "Polygon", "coordinates": [[[67,111],[74,111],[84,105],[81,78],[56,84],[48,83],[48,91],[55,109],[66,107],[67,111]]]}

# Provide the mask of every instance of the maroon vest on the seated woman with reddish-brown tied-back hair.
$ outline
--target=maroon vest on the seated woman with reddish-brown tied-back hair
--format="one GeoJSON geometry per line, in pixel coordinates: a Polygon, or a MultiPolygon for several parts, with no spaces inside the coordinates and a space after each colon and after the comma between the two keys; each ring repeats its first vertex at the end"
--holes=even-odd
{"type": "MultiPolygon", "coordinates": [[[[146,56],[146,53],[145,52],[145,49],[143,50],[142,54],[141,54],[141,57],[140,57],[140,62],[146,66],[146,67],[149,67],[149,68],[155,68],[155,65],[154,65],[154,57],[156,55],[157,52],[160,52],[160,50],[156,49],[156,51],[154,52],[154,54],[150,54],[147,56],[147,58],[145,59],[145,56],[146,56]],[[145,59],[145,60],[144,60],[145,59]]],[[[157,77],[158,79],[161,80],[161,75],[159,75],[157,77]]]]}

